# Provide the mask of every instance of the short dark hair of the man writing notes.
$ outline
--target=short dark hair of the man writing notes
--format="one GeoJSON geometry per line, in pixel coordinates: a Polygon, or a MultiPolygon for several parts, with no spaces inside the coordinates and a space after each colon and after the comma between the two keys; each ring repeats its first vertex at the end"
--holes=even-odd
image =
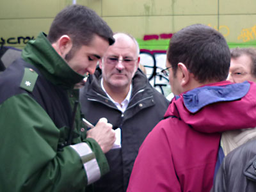
{"type": "Polygon", "coordinates": [[[93,10],[78,4],[67,6],[56,15],[47,38],[54,43],[62,35],[70,36],[75,47],[89,45],[94,35],[105,38],[109,45],[115,42],[108,24],[93,10]]]}

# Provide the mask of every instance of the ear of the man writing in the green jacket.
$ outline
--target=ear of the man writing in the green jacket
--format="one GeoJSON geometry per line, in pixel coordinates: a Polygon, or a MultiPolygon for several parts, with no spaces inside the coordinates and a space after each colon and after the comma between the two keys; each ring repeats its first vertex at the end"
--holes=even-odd
{"type": "Polygon", "coordinates": [[[62,35],[52,47],[60,54],[62,58],[68,54],[68,52],[72,49],[72,40],[68,35],[62,35]]]}

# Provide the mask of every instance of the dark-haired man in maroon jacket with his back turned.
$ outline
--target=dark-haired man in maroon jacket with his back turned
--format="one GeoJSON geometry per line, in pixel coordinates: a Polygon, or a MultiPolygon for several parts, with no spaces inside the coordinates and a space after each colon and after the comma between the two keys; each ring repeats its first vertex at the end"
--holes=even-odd
{"type": "Polygon", "coordinates": [[[256,126],[256,86],[225,81],[229,66],[215,29],[195,24],[172,36],[163,72],[179,96],[141,145],[127,191],[210,191],[221,132],[256,126]]]}

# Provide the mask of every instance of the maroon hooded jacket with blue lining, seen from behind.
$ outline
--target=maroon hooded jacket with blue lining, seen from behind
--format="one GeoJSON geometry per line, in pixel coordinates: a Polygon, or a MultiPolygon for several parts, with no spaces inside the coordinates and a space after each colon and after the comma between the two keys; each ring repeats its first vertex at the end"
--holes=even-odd
{"type": "Polygon", "coordinates": [[[127,191],[207,192],[221,131],[256,126],[256,84],[208,84],[182,93],[140,147],[127,191]]]}

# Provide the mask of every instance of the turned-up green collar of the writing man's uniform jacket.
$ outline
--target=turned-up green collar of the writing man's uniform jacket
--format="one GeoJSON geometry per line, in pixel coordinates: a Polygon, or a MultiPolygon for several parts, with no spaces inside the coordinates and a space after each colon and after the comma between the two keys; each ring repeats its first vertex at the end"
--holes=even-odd
{"type": "Polygon", "coordinates": [[[84,78],[72,70],[61,58],[47,40],[45,33],[40,33],[36,40],[28,42],[22,51],[22,58],[35,65],[46,79],[65,89],[73,88],[74,84],[84,78]]]}

